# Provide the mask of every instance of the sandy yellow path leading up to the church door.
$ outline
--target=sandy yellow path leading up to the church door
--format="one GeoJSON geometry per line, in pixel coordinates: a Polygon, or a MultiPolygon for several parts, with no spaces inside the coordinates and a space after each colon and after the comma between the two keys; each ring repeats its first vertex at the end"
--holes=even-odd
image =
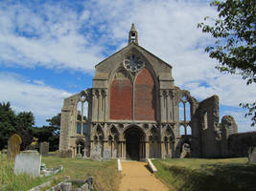
{"type": "Polygon", "coordinates": [[[119,191],[168,191],[168,187],[157,180],[141,161],[122,161],[122,180],[119,191]]]}

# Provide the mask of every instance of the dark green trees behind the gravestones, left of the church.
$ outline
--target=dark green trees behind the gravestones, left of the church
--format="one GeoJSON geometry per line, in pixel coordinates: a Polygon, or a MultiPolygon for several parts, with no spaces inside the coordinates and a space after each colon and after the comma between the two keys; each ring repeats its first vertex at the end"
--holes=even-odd
{"type": "Polygon", "coordinates": [[[58,114],[47,119],[49,126],[33,127],[33,113],[20,112],[16,115],[10,102],[0,103],[0,150],[8,144],[8,138],[14,133],[22,138],[21,150],[28,148],[33,138],[38,138],[38,142],[49,141],[50,151],[58,150],[60,117],[61,114],[58,114]]]}

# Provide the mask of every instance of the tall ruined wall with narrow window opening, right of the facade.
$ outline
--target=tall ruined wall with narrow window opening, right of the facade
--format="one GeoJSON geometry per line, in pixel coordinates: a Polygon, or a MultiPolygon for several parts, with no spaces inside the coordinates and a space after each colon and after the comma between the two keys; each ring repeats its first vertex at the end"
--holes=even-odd
{"type": "Polygon", "coordinates": [[[219,97],[211,96],[199,102],[198,128],[200,128],[200,156],[221,157],[219,131],[219,97]]]}

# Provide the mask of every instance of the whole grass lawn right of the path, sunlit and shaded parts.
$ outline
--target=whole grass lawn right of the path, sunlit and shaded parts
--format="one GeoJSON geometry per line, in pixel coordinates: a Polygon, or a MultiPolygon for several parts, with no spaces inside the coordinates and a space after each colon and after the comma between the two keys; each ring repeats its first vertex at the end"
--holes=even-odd
{"type": "Polygon", "coordinates": [[[170,189],[184,191],[252,191],[256,163],[236,159],[153,159],[156,178],[170,189]]]}

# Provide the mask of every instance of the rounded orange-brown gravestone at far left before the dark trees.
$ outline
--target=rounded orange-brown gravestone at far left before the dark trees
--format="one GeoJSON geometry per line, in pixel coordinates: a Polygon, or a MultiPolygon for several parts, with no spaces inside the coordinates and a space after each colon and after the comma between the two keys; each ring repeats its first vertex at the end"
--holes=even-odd
{"type": "Polygon", "coordinates": [[[8,158],[15,159],[15,156],[20,152],[20,144],[22,143],[21,138],[17,134],[13,134],[8,139],[8,158]]]}

